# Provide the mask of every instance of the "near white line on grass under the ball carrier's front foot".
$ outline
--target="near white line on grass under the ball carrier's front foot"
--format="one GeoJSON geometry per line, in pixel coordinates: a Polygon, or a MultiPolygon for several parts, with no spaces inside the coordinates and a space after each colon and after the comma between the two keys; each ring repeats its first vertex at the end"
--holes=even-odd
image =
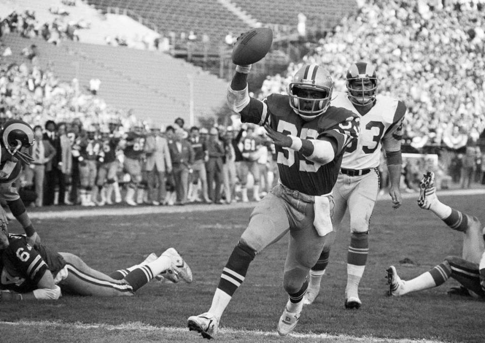
{"type": "MultiPolygon", "coordinates": [[[[80,323],[63,323],[57,321],[16,321],[7,322],[0,321],[0,325],[12,325],[12,326],[62,326],[66,328],[76,328],[76,329],[105,329],[105,330],[136,330],[136,331],[164,331],[172,333],[180,332],[190,332],[188,328],[172,327],[172,326],[153,326],[147,325],[140,322],[129,322],[120,325],[109,325],[109,324],[80,324],[80,323]]],[[[192,332],[193,333],[193,332],[192,332]]],[[[238,330],[232,328],[220,328],[219,334],[248,334],[254,336],[275,336],[280,337],[276,331],[259,331],[259,330],[238,330]]],[[[193,333],[195,334],[195,333],[193,333]]],[[[326,333],[290,333],[288,336],[309,338],[309,339],[333,339],[337,341],[338,339],[353,339],[355,341],[372,341],[372,343],[447,343],[441,340],[428,340],[428,339],[410,339],[410,338],[379,338],[379,337],[355,337],[351,335],[330,335],[326,333]]]]}

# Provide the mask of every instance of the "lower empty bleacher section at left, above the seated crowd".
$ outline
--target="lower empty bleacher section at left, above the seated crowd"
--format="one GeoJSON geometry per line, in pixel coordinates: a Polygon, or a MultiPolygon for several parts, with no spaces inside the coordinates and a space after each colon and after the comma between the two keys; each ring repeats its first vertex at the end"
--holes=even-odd
{"type": "Polygon", "coordinates": [[[66,82],[78,78],[84,89],[91,78],[99,78],[98,94],[107,103],[120,109],[133,108],[138,118],[154,124],[172,124],[177,117],[190,123],[189,77],[193,78],[196,122],[200,116],[211,115],[225,101],[225,81],[164,53],[73,41],[54,46],[18,34],[4,35],[2,40],[12,49],[6,63],[23,59],[21,50],[36,44],[42,68],[53,70],[66,82]]]}

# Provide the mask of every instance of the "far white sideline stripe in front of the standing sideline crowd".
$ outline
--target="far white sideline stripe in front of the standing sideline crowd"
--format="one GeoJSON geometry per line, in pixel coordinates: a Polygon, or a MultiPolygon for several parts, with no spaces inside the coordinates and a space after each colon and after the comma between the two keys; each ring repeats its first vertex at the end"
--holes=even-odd
{"type": "MultiPolygon", "coordinates": [[[[485,189],[467,189],[467,190],[452,190],[452,191],[437,191],[438,196],[448,195],[477,195],[485,194],[485,189]]],[[[419,197],[419,192],[402,193],[403,199],[416,200],[419,197]]],[[[391,197],[387,192],[377,196],[377,201],[391,201],[391,197]]],[[[102,215],[137,215],[137,214],[155,214],[155,213],[190,213],[190,212],[220,212],[221,210],[234,210],[236,208],[254,208],[256,202],[248,203],[234,203],[225,205],[207,205],[207,204],[187,204],[185,206],[117,206],[117,207],[89,207],[86,209],[76,210],[57,210],[57,211],[41,211],[30,212],[27,209],[29,217],[32,219],[53,219],[53,218],[79,218],[79,217],[96,217],[102,215]]],[[[417,207],[417,205],[416,205],[417,207]]]]}

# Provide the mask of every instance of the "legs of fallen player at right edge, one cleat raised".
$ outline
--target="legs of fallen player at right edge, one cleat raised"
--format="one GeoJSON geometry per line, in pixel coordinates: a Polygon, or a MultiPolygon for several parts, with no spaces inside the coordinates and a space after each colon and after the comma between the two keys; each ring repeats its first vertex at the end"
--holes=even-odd
{"type": "Polygon", "coordinates": [[[485,298],[485,227],[477,217],[460,212],[438,199],[433,172],[424,175],[420,186],[419,207],[431,211],[450,228],[463,233],[462,255],[445,257],[442,263],[407,281],[399,277],[394,266],[390,266],[387,269],[389,295],[399,297],[438,287],[452,277],[460,282],[461,287],[452,288],[449,294],[485,298]]]}

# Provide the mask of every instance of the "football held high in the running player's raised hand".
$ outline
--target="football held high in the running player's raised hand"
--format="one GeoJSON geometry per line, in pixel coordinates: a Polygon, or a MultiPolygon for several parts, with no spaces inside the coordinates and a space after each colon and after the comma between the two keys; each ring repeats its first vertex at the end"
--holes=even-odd
{"type": "Polygon", "coordinates": [[[241,34],[232,48],[232,62],[238,66],[250,65],[261,60],[273,43],[273,30],[258,27],[241,34]]]}

